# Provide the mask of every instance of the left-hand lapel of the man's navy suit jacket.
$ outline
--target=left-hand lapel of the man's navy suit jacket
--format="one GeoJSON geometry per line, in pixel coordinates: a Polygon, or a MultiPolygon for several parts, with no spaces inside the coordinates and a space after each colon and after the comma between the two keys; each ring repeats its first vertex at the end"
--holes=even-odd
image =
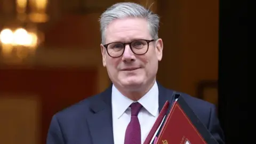
{"type": "Polygon", "coordinates": [[[92,142],[114,143],[113,121],[111,110],[111,86],[99,95],[99,99],[92,102],[92,116],[87,119],[92,142]]]}

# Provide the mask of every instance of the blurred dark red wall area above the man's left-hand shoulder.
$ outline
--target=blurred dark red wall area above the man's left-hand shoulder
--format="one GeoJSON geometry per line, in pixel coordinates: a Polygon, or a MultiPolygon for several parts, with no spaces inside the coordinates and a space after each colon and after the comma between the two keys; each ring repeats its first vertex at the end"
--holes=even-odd
{"type": "Polygon", "coordinates": [[[0,69],[0,97],[34,93],[41,101],[41,133],[45,143],[54,113],[97,91],[97,68],[0,69]]]}

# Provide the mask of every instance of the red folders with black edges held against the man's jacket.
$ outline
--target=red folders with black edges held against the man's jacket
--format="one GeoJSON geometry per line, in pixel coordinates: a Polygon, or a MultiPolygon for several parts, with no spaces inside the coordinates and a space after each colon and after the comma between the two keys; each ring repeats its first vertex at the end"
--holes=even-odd
{"type": "MultiPolygon", "coordinates": [[[[163,107],[165,109],[165,107],[163,107]]],[[[161,110],[164,111],[164,110],[161,110]]],[[[163,116],[159,114],[158,121],[162,121],[163,116]]],[[[154,125],[155,126],[155,125],[154,125]]],[[[153,128],[154,128],[153,126],[153,128]]],[[[158,127],[158,126],[157,126],[158,127]]],[[[151,133],[155,134],[156,130],[151,129],[151,133]]],[[[144,144],[151,144],[150,141],[153,137],[147,138],[144,144]],[[150,141],[148,141],[150,139],[150,141]]],[[[167,111],[164,122],[156,135],[154,144],[162,143],[182,143],[182,144],[217,144],[211,133],[203,125],[203,123],[195,115],[194,111],[188,106],[187,102],[183,99],[182,95],[178,100],[173,103],[170,111],[167,111]]]]}

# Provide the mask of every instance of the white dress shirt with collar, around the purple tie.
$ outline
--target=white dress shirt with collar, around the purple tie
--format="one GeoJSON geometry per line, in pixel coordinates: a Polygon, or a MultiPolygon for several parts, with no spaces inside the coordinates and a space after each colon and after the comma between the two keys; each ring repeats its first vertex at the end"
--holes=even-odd
{"type": "MultiPolygon", "coordinates": [[[[112,87],[112,112],[114,143],[124,143],[125,131],[131,121],[131,108],[134,101],[121,94],[116,87],[112,87]]],[[[138,114],[141,128],[141,143],[143,143],[158,117],[158,86],[154,86],[138,102],[143,106],[138,114]]]]}

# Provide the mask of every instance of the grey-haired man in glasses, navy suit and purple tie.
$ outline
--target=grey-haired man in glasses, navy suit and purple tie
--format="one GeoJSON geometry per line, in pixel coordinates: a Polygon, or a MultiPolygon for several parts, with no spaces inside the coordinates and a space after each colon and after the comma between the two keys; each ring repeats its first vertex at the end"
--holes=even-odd
{"type": "MultiPolygon", "coordinates": [[[[156,81],[163,41],[159,18],[134,3],[117,3],[100,18],[102,62],[111,84],[52,118],[47,144],[143,143],[173,91],[156,81]]],[[[214,105],[182,94],[218,142],[223,133],[214,105]]]]}

